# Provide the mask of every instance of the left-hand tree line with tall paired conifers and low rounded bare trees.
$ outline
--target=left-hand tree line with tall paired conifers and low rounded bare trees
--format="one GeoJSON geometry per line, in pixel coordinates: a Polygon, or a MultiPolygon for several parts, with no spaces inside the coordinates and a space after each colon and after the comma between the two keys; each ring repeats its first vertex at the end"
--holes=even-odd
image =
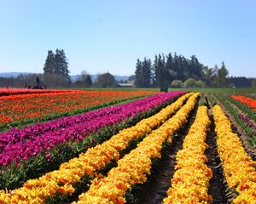
{"type": "Polygon", "coordinates": [[[44,63],[43,74],[20,74],[18,77],[0,77],[0,87],[66,88],[66,87],[115,87],[116,80],[108,71],[99,74],[96,82],[92,82],[87,71],[82,71],[75,82],[72,82],[68,70],[67,57],[63,49],[57,48],[55,53],[48,51],[44,63]],[[39,84],[38,84],[39,81],[39,84]]]}

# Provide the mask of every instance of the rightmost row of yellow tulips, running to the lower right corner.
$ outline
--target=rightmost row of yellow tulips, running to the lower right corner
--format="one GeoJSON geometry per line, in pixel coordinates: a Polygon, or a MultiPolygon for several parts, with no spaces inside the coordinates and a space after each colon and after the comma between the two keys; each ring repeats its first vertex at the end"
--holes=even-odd
{"type": "Polygon", "coordinates": [[[238,194],[235,204],[255,203],[256,201],[256,162],[247,155],[241,140],[232,133],[230,120],[221,107],[213,107],[215,131],[218,139],[218,154],[224,165],[224,175],[230,190],[238,194]]]}

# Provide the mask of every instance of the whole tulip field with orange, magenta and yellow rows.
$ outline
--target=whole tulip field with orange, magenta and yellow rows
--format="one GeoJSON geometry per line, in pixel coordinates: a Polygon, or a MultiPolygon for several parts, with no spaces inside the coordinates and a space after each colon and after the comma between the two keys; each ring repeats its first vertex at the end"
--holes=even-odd
{"type": "Polygon", "coordinates": [[[0,204],[256,203],[256,99],[0,89],[0,204]]]}

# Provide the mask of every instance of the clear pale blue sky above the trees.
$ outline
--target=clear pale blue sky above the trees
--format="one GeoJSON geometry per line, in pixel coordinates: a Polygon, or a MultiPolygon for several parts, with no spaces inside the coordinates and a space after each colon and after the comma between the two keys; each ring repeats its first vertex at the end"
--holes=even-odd
{"type": "Polygon", "coordinates": [[[177,52],[256,77],[256,0],[0,0],[0,72],[43,72],[56,48],[71,74],[131,75],[177,52]]]}

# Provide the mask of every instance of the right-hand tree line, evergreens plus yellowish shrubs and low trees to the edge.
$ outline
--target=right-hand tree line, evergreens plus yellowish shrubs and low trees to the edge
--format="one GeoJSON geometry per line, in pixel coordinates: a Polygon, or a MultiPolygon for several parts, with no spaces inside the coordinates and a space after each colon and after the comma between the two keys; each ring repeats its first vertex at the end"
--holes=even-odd
{"type": "Polygon", "coordinates": [[[252,87],[253,79],[229,77],[224,62],[221,66],[209,68],[203,65],[195,55],[189,59],[177,53],[157,54],[151,59],[137,59],[135,84],[138,88],[225,88],[252,87]]]}

